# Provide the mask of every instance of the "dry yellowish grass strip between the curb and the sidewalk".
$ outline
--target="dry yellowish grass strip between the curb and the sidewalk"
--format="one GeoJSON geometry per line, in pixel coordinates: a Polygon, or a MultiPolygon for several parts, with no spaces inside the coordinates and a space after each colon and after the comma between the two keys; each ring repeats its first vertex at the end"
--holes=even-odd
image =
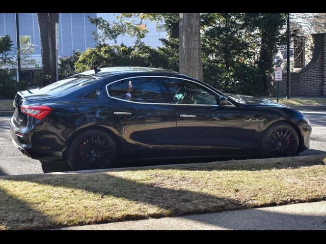
{"type": "Polygon", "coordinates": [[[0,177],[0,229],[45,229],[326,199],[326,157],[0,177]]]}

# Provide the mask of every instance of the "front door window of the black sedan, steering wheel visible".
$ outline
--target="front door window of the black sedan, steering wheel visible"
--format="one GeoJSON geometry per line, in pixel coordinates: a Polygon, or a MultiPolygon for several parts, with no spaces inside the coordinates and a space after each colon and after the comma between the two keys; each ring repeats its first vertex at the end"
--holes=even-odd
{"type": "Polygon", "coordinates": [[[165,92],[165,99],[172,104],[219,104],[219,96],[200,84],[187,80],[166,78],[164,85],[168,91],[168,94],[165,92]]]}

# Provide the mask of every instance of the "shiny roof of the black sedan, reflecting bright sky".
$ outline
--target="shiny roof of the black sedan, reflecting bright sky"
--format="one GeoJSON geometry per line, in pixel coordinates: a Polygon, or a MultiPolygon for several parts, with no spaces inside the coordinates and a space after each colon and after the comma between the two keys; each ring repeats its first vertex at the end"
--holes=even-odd
{"type": "Polygon", "coordinates": [[[79,74],[95,75],[100,77],[108,77],[112,75],[122,75],[122,74],[130,74],[130,73],[179,74],[178,72],[172,70],[148,68],[148,67],[105,67],[105,68],[98,68],[98,70],[99,70],[98,72],[95,72],[94,69],[79,74]]]}

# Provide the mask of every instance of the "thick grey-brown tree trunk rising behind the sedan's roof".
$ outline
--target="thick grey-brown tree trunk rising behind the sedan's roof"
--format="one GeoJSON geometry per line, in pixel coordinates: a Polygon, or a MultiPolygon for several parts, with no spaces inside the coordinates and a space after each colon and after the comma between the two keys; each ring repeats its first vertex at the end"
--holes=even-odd
{"type": "Polygon", "coordinates": [[[199,13],[180,13],[179,37],[180,73],[202,80],[203,64],[199,13]]]}

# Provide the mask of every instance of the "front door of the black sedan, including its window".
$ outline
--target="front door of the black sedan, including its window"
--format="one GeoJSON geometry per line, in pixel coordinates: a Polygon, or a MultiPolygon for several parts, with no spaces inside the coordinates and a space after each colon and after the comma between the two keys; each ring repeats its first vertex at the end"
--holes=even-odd
{"type": "Polygon", "coordinates": [[[241,154],[243,115],[235,105],[220,106],[220,96],[195,81],[166,78],[164,85],[176,113],[180,155],[241,154]]]}

